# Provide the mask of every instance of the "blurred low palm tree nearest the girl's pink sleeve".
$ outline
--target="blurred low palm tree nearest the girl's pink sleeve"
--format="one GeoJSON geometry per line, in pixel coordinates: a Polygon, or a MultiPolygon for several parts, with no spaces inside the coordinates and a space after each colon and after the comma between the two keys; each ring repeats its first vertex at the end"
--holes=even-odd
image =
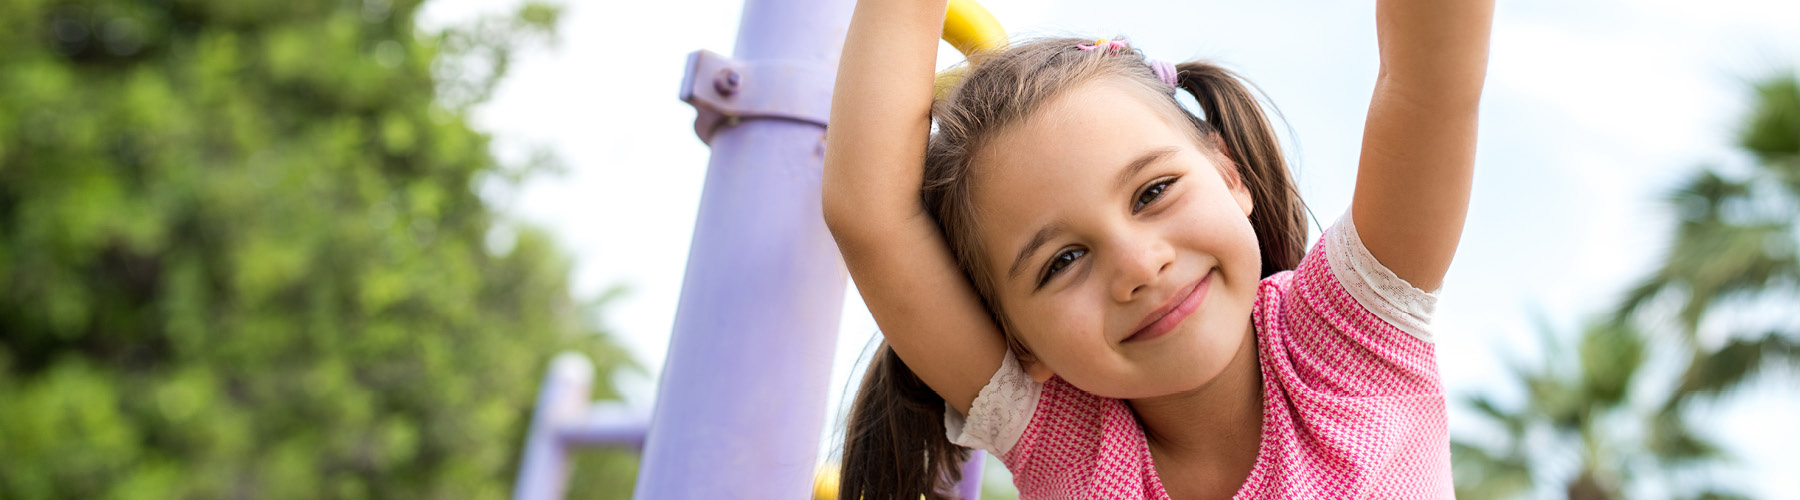
{"type": "Polygon", "coordinates": [[[1699,489],[1687,498],[1741,498],[1705,477],[1679,482],[1726,455],[1696,435],[1683,412],[1661,410],[1661,399],[1672,396],[1645,390],[1656,381],[1643,378],[1651,356],[1643,331],[1600,320],[1573,338],[1548,326],[1539,336],[1544,353],[1537,362],[1508,363],[1525,388],[1523,403],[1501,405],[1483,394],[1467,399],[1503,439],[1451,442],[1458,498],[1516,498],[1555,484],[1570,500],[1616,500],[1649,482],[1699,489]]]}

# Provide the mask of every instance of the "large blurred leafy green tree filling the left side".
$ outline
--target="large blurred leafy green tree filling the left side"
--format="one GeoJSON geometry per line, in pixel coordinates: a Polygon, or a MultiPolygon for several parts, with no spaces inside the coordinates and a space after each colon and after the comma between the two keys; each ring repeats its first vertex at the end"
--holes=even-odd
{"type": "MultiPolygon", "coordinates": [[[[0,498],[500,498],[547,358],[632,362],[468,121],[558,11],[0,7],[0,498]]],[[[576,496],[626,496],[589,457],[576,496]]]]}

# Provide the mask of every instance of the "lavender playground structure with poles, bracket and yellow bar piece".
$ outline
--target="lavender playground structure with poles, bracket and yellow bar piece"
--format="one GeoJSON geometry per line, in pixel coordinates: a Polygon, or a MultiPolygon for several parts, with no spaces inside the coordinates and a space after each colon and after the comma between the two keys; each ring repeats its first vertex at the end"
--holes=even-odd
{"type": "MultiPolygon", "coordinates": [[[[819,178],[837,58],[853,0],[745,0],[731,58],[688,56],[680,99],[713,149],[655,410],[596,405],[594,365],[560,354],[538,392],[517,500],[562,498],[569,453],[643,451],[635,498],[810,498],[846,272],[819,178]]],[[[950,0],[943,40],[963,54],[1006,34],[950,0]]],[[[954,72],[940,76],[940,88],[954,72]]],[[[983,451],[956,495],[977,498],[983,451]]],[[[835,493],[835,491],[833,491],[835,493]]]]}

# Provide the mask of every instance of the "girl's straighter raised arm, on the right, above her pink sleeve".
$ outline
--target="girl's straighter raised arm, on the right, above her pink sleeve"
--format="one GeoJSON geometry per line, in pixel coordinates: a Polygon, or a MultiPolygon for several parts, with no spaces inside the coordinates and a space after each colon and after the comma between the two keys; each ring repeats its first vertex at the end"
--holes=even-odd
{"type": "Polygon", "coordinates": [[[1381,77],[1352,216],[1395,275],[1436,290],[1462,239],[1494,0],[1379,0],[1381,77]]]}

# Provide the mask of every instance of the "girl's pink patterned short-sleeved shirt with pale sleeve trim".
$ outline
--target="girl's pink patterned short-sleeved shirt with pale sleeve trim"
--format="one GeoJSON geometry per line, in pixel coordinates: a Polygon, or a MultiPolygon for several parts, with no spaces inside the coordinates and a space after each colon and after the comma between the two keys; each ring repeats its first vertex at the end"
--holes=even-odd
{"type": "MultiPolygon", "coordinates": [[[[1262,281],[1262,448],[1235,498],[1451,498],[1435,293],[1381,266],[1350,216],[1294,272],[1262,281]]],[[[1120,399],[1037,383],[1006,354],[952,442],[988,450],[1019,498],[1166,500],[1143,428],[1120,399]]]]}

